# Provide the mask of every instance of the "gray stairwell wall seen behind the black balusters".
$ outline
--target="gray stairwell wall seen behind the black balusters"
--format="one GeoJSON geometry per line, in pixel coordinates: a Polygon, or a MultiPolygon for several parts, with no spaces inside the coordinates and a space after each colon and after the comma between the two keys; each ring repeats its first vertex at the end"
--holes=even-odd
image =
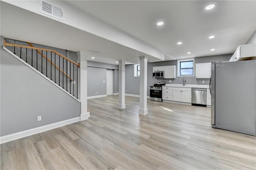
{"type": "MultiPolygon", "coordinates": [[[[8,38],[5,38],[5,40],[6,40],[6,42],[29,46],[26,42],[23,42],[23,41],[12,40],[12,39],[8,39],[8,38]]],[[[33,46],[40,47],[40,48],[52,49],[52,50],[55,50],[55,51],[59,52],[60,54],[62,54],[64,56],[70,58],[74,62],[78,61],[77,52],[68,51],[68,50],[64,50],[64,49],[60,49],[60,48],[49,47],[49,46],[43,46],[43,45],[40,45],[40,44],[33,44],[33,46]]],[[[14,52],[14,47],[6,46],[6,48],[8,48],[8,50],[14,52]]],[[[17,56],[20,56],[20,48],[16,47],[15,52],[16,52],[17,56]]],[[[46,56],[46,51],[43,51],[43,54],[46,56]]],[[[25,61],[26,60],[26,48],[22,48],[21,55],[22,55],[22,59],[25,61]]],[[[49,59],[51,58],[51,53],[50,52],[47,53],[47,57],[49,59]]],[[[28,49],[28,51],[27,51],[27,62],[30,65],[32,65],[32,60],[31,59],[32,59],[32,52],[31,52],[31,49],[28,49]]],[[[38,54],[37,55],[37,60],[38,60],[38,70],[41,72],[41,69],[42,69],[43,74],[46,75],[46,59],[43,58],[43,60],[42,60],[42,56],[40,54],[38,54]]],[[[70,65],[70,62],[68,62],[68,67],[67,67],[66,60],[64,60],[64,67],[63,67],[63,58],[60,57],[60,64],[59,64],[59,56],[56,55],[56,62],[55,62],[54,54],[52,54],[52,62],[54,62],[56,64],[56,66],[59,66],[60,69],[64,70],[65,73],[67,72],[68,75],[70,75],[70,73],[71,73],[71,78],[76,80],[76,83],[78,82],[77,81],[77,67],[76,67],[76,65],[74,65],[74,77],[73,77],[73,64],[72,63],[70,65]],[[71,67],[71,70],[70,70],[70,67],[71,67]]],[[[33,67],[36,68],[36,50],[33,50],[33,67]]],[[[62,72],[60,72],[60,74],[59,74],[59,70],[57,68],[55,69],[55,67],[52,64],[50,64],[50,62],[47,62],[47,76],[48,76],[48,78],[50,78],[51,75],[52,75],[52,80],[54,82],[56,81],[56,83],[60,84],[61,87],[64,86],[65,90],[68,89],[68,91],[71,94],[73,94],[73,84],[72,84],[72,82],[70,82],[69,79],[67,79],[67,77],[62,74],[62,72]],[[52,70],[52,74],[51,74],[51,70],[52,70]],[[55,74],[55,71],[56,71],[56,74],[55,74]],[[55,75],[56,75],[56,79],[55,79],[55,75]],[[59,77],[59,75],[60,75],[60,77],[59,77]],[[63,80],[63,78],[64,78],[64,80],[63,80]],[[68,83],[67,83],[67,81],[68,81],[68,83]]],[[[78,82],[78,84],[79,83],[80,82],[78,82]]],[[[76,86],[76,84],[74,84],[74,96],[77,95],[76,88],[77,88],[77,86],[76,86]]]]}

